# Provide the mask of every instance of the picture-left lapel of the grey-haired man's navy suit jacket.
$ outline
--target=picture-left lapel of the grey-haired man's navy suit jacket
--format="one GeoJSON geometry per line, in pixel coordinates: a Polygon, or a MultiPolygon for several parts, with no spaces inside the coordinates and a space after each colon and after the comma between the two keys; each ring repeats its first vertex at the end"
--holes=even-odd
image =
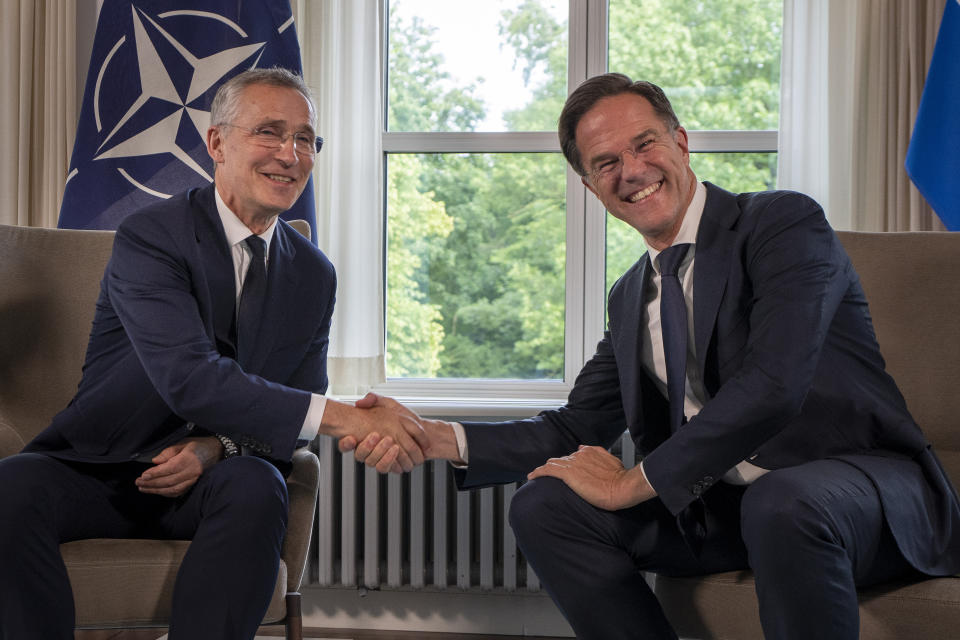
{"type": "Polygon", "coordinates": [[[234,322],[236,318],[236,281],[233,272],[233,257],[227,246],[227,236],[217,213],[214,185],[198,189],[194,193],[193,208],[196,220],[196,236],[200,259],[205,265],[206,280],[217,349],[227,357],[236,356],[234,322]]]}

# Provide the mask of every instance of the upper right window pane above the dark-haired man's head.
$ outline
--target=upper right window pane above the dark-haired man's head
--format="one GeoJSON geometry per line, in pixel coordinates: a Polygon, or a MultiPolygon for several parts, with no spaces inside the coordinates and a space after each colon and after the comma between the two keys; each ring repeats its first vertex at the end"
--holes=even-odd
{"type": "Polygon", "coordinates": [[[687,130],[776,129],[783,0],[610,0],[610,70],[659,85],[687,130]]]}

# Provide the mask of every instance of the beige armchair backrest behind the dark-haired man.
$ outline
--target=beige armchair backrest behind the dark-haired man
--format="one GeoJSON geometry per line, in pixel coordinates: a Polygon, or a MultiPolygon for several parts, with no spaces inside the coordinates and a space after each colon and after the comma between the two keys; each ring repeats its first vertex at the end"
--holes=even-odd
{"type": "Polygon", "coordinates": [[[960,481],[960,233],[838,232],[867,294],[887,371],[960,481]]]}

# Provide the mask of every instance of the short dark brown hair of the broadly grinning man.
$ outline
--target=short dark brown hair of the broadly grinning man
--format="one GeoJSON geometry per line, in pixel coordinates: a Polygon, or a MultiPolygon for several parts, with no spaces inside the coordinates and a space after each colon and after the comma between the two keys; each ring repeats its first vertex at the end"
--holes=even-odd
{"type": "Polygon", "coordinates": [[[634,82],[622,73],[605,73],[585,80],[567,98],[567,102],[563,105],[563,111],[560,112],[560,120],[557,123],[560,149],[573,170],[581,176],[586,175],[587,172],[583,168],[580,150],[577,149],[577,125],[580,124],[580,119],[603,98],[618,96],[623,93],[635,93],[645,98],[653,107],[654,112],[660,116],[667,130],[673,131],[680,126],[677,114],[673,112],[673,107],[670,106],[670,100],[664,95],[663,90],[652,82],[644,82],[643,80],[634,82]]]}

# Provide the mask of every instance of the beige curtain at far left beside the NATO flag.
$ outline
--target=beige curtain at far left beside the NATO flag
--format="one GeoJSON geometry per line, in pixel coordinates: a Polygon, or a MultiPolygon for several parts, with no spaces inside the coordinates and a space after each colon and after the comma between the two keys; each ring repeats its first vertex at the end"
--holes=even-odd
{"type": "Polygon", "coordinates": [[[0,223],[55,227],[77,127],[74,1],[0,3],[0,223]]]}

